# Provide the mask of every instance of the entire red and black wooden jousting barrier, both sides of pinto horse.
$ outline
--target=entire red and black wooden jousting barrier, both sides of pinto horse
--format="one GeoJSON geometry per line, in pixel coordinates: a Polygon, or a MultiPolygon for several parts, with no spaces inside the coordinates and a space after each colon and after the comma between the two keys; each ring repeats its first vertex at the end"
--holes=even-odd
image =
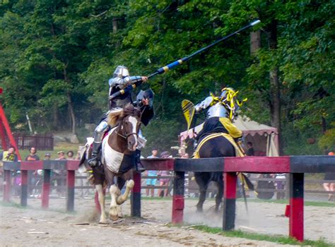
{"type": "MultiPolygon", "coordinates": [[[[175,171],[172,197],[172,223],[180,224],[184,212],[184,174],[187,171],[222,171],[224,179],[223,230],[235,228],[237,171],[247,173],[290,174],[290,205],[288,207],[289,236],[303,241],[303,189],[305,173],[335,172],[334,156],[291,157],[220,157],[206,159],[142,159],[147,170],[175,171]]],[[[4,201],[10,201],[11,170],[21,171],[21,205],[27,205],[28,171],[43,169],[42,207],[49,206],[50,174],[52,169],[67,171],[66,210],[74,210],[74,178],[78,161],[49,160],[40,162],[4,162],[4,201]]],[[[131,215],[141,217],[141,174],[134,174],[131,193],[131,215]]]]}

